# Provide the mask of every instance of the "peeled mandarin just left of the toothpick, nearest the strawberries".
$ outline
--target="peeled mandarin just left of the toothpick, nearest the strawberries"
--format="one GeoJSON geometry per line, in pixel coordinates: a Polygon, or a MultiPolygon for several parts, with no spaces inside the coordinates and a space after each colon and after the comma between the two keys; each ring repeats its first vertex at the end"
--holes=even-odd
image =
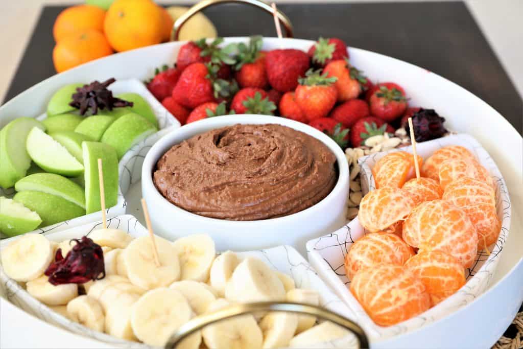
{"type": "MultiPolygon", "coordinates": [[[[423,159],[417,156],[421,167],[423,159]]],[[[372,175],[376,181],[376,188],[401,188],[405,181],[414,177],[414,155],[404,152],[392,152],[383,156],[372,167],[372,175]]]]}

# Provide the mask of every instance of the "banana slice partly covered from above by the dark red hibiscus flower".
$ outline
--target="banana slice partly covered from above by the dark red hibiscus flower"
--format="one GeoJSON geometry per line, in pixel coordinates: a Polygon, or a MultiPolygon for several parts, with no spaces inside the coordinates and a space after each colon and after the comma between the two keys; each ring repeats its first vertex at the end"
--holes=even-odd
{"type": "Polygon", "coordinates": [[[64,306],[78,296],[78,285],[63,284],[54,286],[49,277],[42,275],[27,283],[27,292],[48,306],[64,306]]]}

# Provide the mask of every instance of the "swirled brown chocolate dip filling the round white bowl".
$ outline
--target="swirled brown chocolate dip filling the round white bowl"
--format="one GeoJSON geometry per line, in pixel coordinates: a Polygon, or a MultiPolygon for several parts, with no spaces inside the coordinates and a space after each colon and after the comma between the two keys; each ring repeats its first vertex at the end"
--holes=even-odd
{"type": "Polygon", "coordinates": [[[325,144],[281,125],[234,125],[169,149],[156,164],[156,188],[197,215],[259,220],[316,204],[333,189],[336,157],[325,144]]]}

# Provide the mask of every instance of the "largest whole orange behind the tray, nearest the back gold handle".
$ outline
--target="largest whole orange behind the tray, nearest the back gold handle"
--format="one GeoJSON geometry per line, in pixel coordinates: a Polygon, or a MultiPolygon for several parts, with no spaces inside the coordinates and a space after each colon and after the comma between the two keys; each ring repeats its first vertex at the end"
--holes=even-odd
{"type": "Polygon", "coordinates": [[[160,7],[150,0],[116,0],[104,21],[107,40],[116,51],[160,43],[163,28],[160,7]]]}

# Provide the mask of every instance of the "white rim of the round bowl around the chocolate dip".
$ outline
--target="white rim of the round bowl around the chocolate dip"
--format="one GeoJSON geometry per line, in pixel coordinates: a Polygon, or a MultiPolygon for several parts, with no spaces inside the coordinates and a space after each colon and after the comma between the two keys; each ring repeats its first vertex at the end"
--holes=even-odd
{"type": "MultiPolygon", "coordinates": [[[[186,140],[187,138],[184,138],[186,140]]],[[[347,157],[345,156],[345,152],[342,150],[342,148],[339,147],[338,144],[334,140],[332,140],[330,137],[328,137],[325,133],[315,129],[312,126],[307,125],[303,122],[298,122],[292,119],[287,119],[283,117],[277,117],[277,116],[269,116],[269,115],[253,115],[253,114],[236,114],[236,115],[228,115],[224,117],[219,118],[206,118],[203,120],[199,120],[197,122],[192,122],[187,125],[175,128],[171,130],[169,133],[167,133],[164,137],[162,137],[160,140],[158,140],[156,143],[154,143],[153,147],[147,152],[145,155],[145,159],[143,160],[142,165],[142,195],[144,196],[145,200],[154,200],[156,204],[161,204],[163,207],[166,207],[166,205],[169,205],[172,207],[172,209],[177,212],[178,215],[187,215],[191,219],[194,219],[198,223],[214,223],[214,224],[221,224],[221,226],[231,226],[231,227],[248,227],[253,223],[256,223],[258,226],[262,227],[269,227],[273,224],[282,223],[288,220],[297,220],[300,218],[310,217],[314,216],[315,214],[322,211],[322,208],[324,206],[328,206],[328,204],[333,200],[333,198],[339,196],[340,194],[343,194],[344,187],[348,185],[348,179],[349,179],[349,165],[347,162],[347,157]],[[336,164],[338,167],[338,178],[336,180],[336,184],[334,185],[331,192],[325,196],[323,199],[321,199],[319,202],[316,202],[316,204],[312,205],[311,207],[308,207],[304,210],[301,210],[299,212],[292,213],[291,215],[277,217],[277,218],[269,218],[269,219],[261,219],[261,220],[248,220],[248,221],[235,221],[235,220],[226,220],[226,219],[219,219],[219,218],[211,218],[211,217],[205,217],[197,215],[196,213],[189,212],[187,210],[184,210],[169,200],[167,200],[160,192],[158,192],[158,189],[153,183],[152,179],[152,173],[154,170],[154,167],[156,166],[156,163],[158,160],[160,160],[160,157],[163,156],[163,154],[170,149],[170,147],[173,147],[173,145],[178,144],[178,142],[175,142],[174,139],[179,137],[180,133],[190,133],[193,137],[196,134],[200,134],[203,132],[207,132],[213,129],[217,129],[220,127],[225,126],[232,126],[236,124],[254,124],[254,125],[264,125],[264,124],[277,124],[282,126],[290,127],[294,130],[301,131],[305,134],[308,134],[311,137],[314,137],[315,139],[321,141],[323,144],[326,145],[326,147],[331,150],[334,155],[336,156],[336,164]],[[203,131],[196,131],[199,129],[205,129],[203,131]],[[165,149],[165,150],[162,150],[165,149]]],[[[345,198],[346,200],[346,198],[345,198]]],[[[149,202],[151,205],[151,202],[149,202]]]]}

